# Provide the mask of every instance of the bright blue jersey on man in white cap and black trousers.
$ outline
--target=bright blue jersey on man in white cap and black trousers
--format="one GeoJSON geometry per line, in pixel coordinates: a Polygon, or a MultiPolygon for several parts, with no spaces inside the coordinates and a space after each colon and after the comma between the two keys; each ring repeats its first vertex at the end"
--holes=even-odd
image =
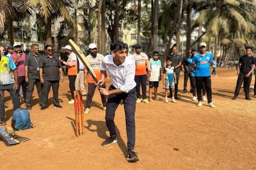
{"type": "Polygon", "coordinates": [[[192,60],[192,63],[196,64],[196,77],[206,77],[211,75],[211,62],[213,62],[212,53],[206,52],[205,56],[202,56],[201,53],[197,53],[192,60]]]}

